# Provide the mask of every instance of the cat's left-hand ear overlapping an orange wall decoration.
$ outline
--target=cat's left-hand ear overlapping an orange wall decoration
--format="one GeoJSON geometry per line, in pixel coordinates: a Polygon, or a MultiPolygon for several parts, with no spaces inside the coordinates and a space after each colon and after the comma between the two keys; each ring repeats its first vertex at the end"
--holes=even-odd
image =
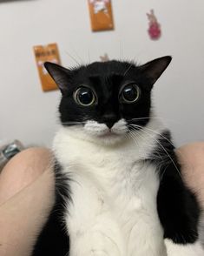
{"type": "Polygon", "coordinates": [[[60,91],[65,94],[66,91],[68,91],[68,80],[70,77],[70,71],[58,64],[54,64],[51,62],[45,62],[44,67],[49,72],[49,75],[54,79],[60,91]]]}

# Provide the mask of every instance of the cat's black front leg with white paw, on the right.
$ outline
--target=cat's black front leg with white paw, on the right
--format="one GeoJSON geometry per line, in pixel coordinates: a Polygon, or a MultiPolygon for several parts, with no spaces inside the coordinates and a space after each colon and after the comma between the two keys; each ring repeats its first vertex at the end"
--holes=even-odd
{"type": "Polygon", "coordinates": [[[164,167],[164,170],[157,207],[168,256],[203,256],[198,233],[201,211],[196,197],[183,183],[180,166],[176,162],[164,167]]]}

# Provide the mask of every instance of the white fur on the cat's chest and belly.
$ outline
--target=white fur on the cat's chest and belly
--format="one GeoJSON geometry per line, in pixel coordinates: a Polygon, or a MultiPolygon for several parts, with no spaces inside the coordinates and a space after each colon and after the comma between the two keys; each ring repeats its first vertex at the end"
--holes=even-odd
{"type": "MultiPolygon", "coordinates": [[[[156,119],[147,128],[163,130],[156,119]]],[[[159,179],[155,167],[142,161],[154,149],[156,133],[137,131],[137,138],[127,136],[124,120],[111,132],[93,121],[56,134],[56,158],[72,180],[65,212],[70,256],[167,255],[156,210],[159,179]]]]}

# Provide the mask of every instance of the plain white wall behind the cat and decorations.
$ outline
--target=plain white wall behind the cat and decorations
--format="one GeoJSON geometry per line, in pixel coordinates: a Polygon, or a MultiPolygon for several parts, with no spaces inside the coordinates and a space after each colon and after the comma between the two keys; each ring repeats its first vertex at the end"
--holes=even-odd
{"type": "Polygon", "coordinates": [[[112,0],[115,31],[92,33],[87,0],[0,3],[0,141],[50,145],[60,93],[41,90],[33,45],[56,42],[63,64],[69,54],[84,63],[131,58],[144,63],[170,54],[171,66],[155,85],[159,116],[177,145],[204,139],[204,2],[202,0],[112,0]],[[146,12],[161,23],[162,37],[148,38],[146,12]]]}

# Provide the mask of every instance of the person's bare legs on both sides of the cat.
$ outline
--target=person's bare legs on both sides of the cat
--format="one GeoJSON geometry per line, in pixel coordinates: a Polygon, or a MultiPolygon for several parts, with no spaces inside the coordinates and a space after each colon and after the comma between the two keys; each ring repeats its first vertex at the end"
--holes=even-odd
{"type": "MultiPolygon", "coordinates": [[[[204,143],[177,150],[182,173],[204,207],[204,143]]],[[[12,158],[0,175],[0,254],[29,256],[54,203],[51,153],[31,148],[12,158]]]]}

